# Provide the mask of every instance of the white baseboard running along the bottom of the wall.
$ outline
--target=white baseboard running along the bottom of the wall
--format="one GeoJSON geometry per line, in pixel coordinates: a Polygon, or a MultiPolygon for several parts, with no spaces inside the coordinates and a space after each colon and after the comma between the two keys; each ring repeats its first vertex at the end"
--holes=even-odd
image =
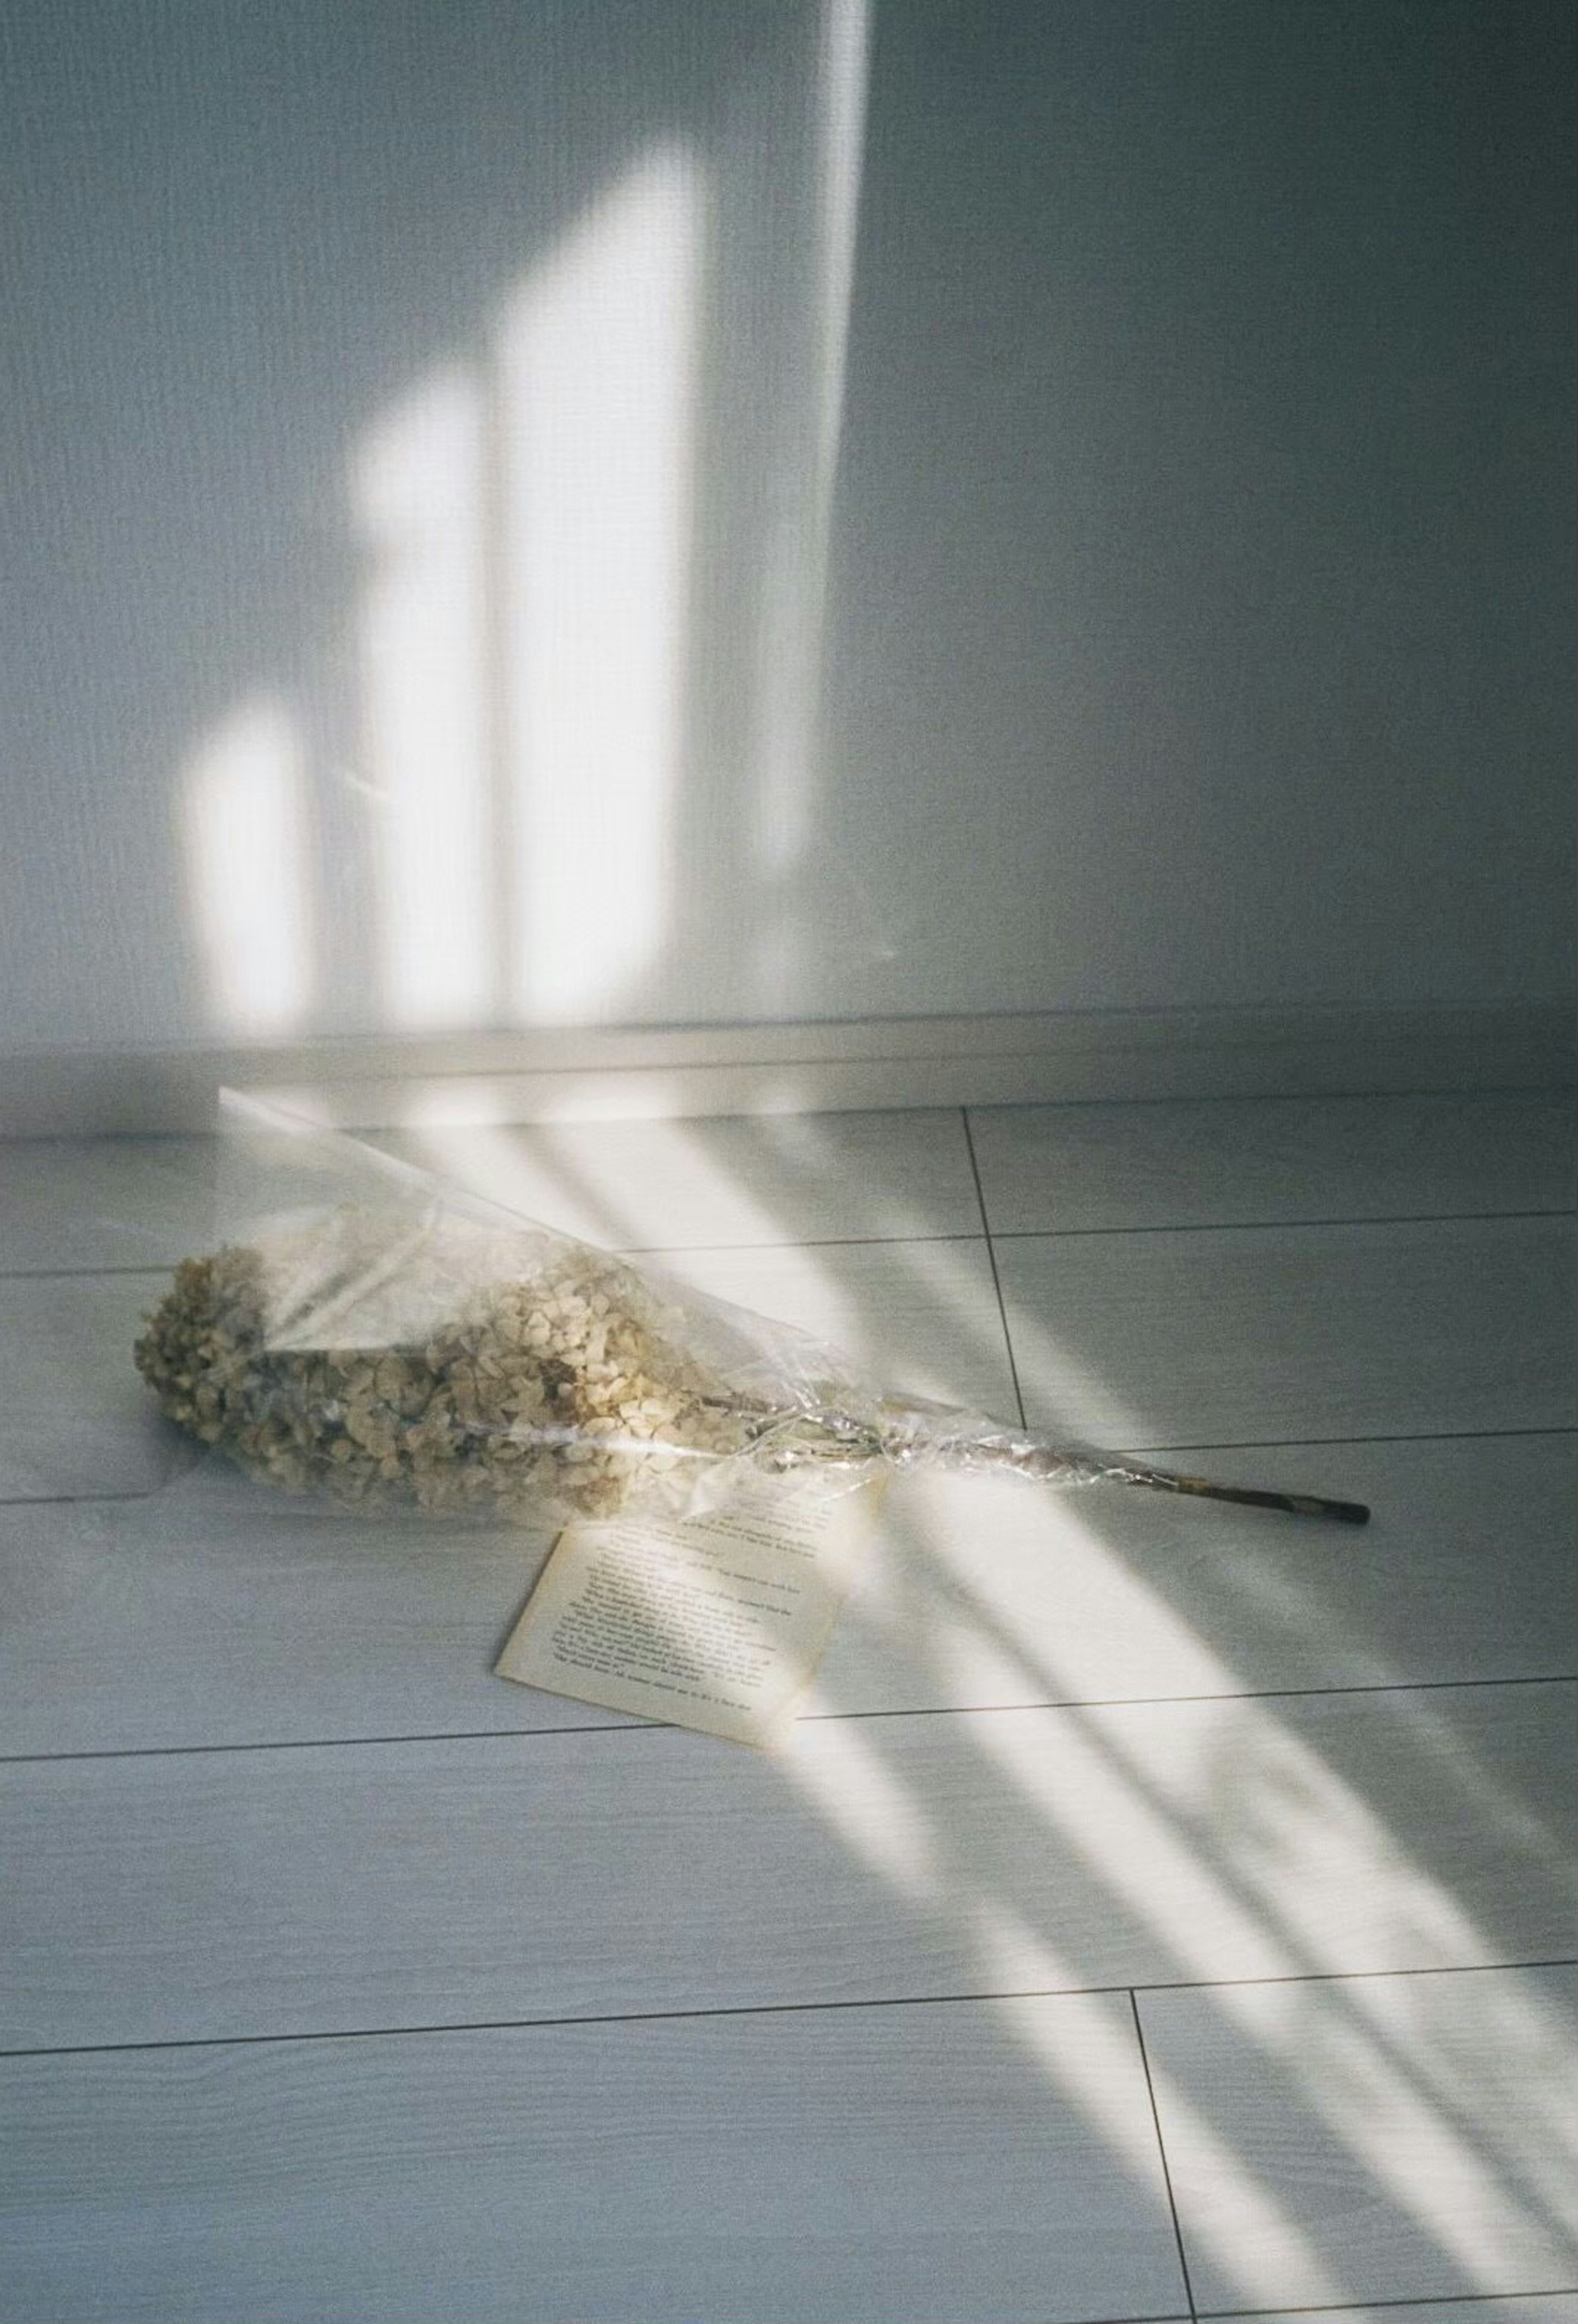
{"type": "Polygon", "coordinates": [[[1573,1016],[1559,1004],[490,1032],[0,1055],[0,1136],[209,1129],[223,1085],[288,1097],[342,1129],[374,1129],[1571,1081],[1573,1016]]]}

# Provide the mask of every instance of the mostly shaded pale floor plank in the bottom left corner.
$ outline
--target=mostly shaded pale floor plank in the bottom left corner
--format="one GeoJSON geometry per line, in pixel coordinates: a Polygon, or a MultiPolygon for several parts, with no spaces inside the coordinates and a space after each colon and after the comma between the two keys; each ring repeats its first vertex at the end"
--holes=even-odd
{"type": "Polygon", "coordinates": [[[7,2324],[1050,2324],[1188,2305],[1127,1996],[5,2073],[7,2324]]]}

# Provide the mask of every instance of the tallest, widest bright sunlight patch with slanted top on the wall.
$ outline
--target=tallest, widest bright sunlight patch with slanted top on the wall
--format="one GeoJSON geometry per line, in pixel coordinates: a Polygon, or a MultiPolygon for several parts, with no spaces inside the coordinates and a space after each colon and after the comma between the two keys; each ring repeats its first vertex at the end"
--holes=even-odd
{"type": "Polygon", "coordinates": [[[704,181],[648,156],[507,307],[514,1013],[618,1011],[672,909],[704,181]]]}

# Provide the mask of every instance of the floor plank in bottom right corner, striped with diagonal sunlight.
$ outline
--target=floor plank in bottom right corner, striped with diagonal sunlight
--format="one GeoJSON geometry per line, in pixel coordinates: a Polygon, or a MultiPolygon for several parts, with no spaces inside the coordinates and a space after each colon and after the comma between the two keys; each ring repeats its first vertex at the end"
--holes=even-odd
{"type": "Polygon", "coordinates": [[[1139,2013],[1202,2310],[1578,2282],[1571,1968],[1141,1994],[1139,2013]]]}

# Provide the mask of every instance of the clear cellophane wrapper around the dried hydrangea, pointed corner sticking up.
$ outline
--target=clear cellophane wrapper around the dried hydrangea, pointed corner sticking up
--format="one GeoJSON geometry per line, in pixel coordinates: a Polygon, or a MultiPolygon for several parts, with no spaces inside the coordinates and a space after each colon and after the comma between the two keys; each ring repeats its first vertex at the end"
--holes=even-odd
{"type": "Polygon", "coordinates": [[[337,1506],[567,1522],[816,1464],[1053,1485],[1134,1471],[895,1397],[790,1325],[225,1092],[216,1248],[137,1367],[191,1439],[337,1506]]]}

